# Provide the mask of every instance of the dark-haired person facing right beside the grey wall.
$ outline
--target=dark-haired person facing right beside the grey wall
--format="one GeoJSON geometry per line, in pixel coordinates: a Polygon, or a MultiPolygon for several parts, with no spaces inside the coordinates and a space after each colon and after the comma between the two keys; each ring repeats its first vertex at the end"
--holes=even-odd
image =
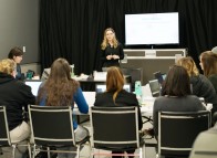
{"type": "Polygon", "coordinates": [[[20,67],[20,63],[22,61],[22,55],[23,55],[23,51],[20,48],[13,48],[10,50],[8,57],[13,60],[17,64],[17,71],[16,71],[16,78],[17,80],[22,80],[22,73],[21,73],[21,67],[20,67]]]}

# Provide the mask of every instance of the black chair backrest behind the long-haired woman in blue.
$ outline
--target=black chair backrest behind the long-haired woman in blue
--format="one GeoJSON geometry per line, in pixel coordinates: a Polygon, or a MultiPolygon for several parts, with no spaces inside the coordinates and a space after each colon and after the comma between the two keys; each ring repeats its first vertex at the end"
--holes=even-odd
{"type": "Polygon", "coordinates": [[[75,145],[70,106],[29,107],[30,125],[37,145],[75,145]]]}

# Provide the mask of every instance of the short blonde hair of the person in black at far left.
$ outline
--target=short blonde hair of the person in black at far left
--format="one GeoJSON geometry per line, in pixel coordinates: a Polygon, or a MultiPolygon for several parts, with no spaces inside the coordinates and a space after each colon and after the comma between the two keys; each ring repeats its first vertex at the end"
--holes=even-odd
{"type": "Polygon", "coordinates": [[[6,59],[0,61],[0,72],[11,75],[16,70],[16,63],[13,60],[6,59]]]}

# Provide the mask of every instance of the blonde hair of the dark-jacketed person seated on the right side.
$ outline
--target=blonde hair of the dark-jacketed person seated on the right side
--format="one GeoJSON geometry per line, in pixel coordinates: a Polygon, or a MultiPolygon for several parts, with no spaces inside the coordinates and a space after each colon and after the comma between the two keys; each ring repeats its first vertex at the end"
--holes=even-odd
{"type": "Polygon", "coordinates": [[[182,57],[177,61],[177,65],[180,65],[187,70],[189,76],[198,76],[199,71],[192,57],[182,57]]]}

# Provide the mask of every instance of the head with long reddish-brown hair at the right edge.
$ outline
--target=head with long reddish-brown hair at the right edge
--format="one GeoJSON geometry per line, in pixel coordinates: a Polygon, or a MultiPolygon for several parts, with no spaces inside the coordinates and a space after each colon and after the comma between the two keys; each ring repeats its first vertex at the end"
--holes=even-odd
{"type": "Polygon", "coordinates": [[[199,61],[204,75],[208,77],[217,93],[217,54],[211,51],[203,52],[199,61]]]}

